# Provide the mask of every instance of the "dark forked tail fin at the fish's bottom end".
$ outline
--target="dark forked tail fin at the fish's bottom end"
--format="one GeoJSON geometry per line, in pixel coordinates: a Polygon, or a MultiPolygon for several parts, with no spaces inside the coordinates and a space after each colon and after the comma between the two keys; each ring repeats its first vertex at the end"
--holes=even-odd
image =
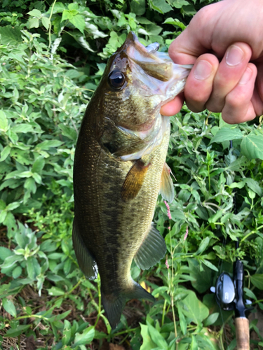
{"type": "Polygon", "coordinates": [[[126,301],[130,299],[147,299],[151,302],[155,301],[155,297],[135,281],[133,281],[133,286],[130,290],[120,290],[119,293],[115,294],[105,294],[102,291],[102,304],[112,329],[116,328],[118,325],[121,319],[123,307],[126,304],[126,301]]]}

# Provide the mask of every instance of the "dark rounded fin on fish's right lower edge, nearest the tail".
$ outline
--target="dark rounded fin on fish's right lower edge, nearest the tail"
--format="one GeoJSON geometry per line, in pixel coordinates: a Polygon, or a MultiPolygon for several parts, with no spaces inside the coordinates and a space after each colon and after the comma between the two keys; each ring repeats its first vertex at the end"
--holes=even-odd
{"type": "Polygon", "coordinates": [[[135,254],[134,261],[137,267],[149,269],[159,262],[166,254],[166,242],[160,233],[151,224],[147,236],[135,254]]]}

